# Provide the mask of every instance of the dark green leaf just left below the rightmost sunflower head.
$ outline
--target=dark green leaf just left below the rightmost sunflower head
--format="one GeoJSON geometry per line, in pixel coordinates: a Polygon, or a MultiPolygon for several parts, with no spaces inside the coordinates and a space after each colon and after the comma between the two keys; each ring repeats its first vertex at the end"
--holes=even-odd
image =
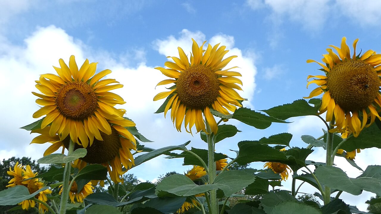
{"type": "Polygon", "coordinates": [[[290,117],[318,115],[318,109],[318,107],[309,105],[304,99],[298,99],[291,104],[279,105],[262,111],[266,112],[271,117],[287,120],[290,117]]]}

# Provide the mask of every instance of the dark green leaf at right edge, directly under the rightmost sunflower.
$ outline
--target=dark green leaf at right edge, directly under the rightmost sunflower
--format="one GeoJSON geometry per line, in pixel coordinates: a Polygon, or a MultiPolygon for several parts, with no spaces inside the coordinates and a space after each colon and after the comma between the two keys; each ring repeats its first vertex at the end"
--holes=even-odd
{"type": "Polygon", "coordinates": [[[371,147],[381,149],[381,131],[375,123],[368,128],[364,128],[358,137],[352,136],[347,139],[339,149],[350,152],[355,149],[367,149],[371,147]]]}

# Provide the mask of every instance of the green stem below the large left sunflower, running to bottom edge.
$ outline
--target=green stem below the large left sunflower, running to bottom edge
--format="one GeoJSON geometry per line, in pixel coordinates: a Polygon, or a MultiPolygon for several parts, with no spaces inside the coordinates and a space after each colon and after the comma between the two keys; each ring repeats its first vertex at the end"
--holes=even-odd
{"type": "MultiPolygon", "coordinates": [[[[67,155],[69,156],[74,151],[74,142],[69,141],[69,149],[67,150],[67,155]]],[[[66,205],[67,200],[69,200],[69,192],[70,192],[70,170],[71,169],[71,161],[66,163],[65,171],[64,171],[64,181],[62,184],[62,195],[61,195],[61,203],[59,205],[59,214],[66,214],[66,205]]]]}

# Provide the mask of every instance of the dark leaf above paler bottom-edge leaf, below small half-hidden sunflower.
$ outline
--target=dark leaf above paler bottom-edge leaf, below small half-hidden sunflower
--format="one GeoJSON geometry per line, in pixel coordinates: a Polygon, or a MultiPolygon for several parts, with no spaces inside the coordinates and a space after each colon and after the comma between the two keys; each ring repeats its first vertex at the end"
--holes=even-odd
{"type": "MultiPolygon", "coordinates": [[[[286,190],[271,191],[263,195],[261,199],[261,206],[263,206],[266,213],[272,213],[271,209],[282,201],[296,201],[295,197],[288,193],[286,190]]],[[[298,212],[295,212],[298,213],[298,212]]]]}

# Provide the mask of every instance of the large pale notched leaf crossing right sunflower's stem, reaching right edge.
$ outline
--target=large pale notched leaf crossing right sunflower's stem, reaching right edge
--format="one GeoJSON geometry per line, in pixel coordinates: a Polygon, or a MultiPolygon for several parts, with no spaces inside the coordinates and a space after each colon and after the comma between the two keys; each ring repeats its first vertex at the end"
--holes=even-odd
{"type": "Polygon", "coordinates": [[[352,195],[360,195],[362,190],[381,195],[381,166],[368,166],[357,178],[348,177],[342,169],[334,166],[319,166],[315,175],[321,184],[352,195]]]}

